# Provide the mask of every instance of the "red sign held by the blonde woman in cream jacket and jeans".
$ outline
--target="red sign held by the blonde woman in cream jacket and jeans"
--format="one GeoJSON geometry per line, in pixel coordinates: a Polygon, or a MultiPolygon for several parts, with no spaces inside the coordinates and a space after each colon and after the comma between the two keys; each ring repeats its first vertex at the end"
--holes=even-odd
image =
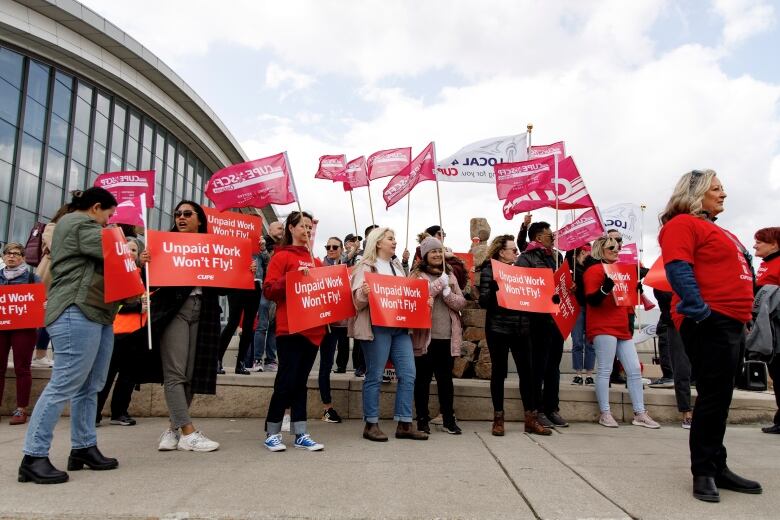
{"type": "Polygon", "coordinates": [[[366,273],[371,323],[380,327],[427,329],[431,326],[428,282],[366,273]]]}

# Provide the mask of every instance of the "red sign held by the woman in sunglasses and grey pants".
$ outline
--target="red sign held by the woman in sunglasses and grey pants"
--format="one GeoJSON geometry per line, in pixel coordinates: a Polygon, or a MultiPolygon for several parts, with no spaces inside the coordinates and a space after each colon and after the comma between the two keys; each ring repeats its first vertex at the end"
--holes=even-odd
{"type": "Polygon", "coordinates": [[[252,252],[243,238],[149,231],[149,284],[253,289],[252,252]]]}

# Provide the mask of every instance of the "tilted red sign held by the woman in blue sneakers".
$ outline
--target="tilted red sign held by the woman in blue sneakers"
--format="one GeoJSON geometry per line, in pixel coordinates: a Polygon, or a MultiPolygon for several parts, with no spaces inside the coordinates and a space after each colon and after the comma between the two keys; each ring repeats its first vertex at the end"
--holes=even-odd
{"type": "Polygon", "coordinates": [[[285,280],[290,334],[355,315],[349,272],[344,264],[289,271],[285,280]]]}

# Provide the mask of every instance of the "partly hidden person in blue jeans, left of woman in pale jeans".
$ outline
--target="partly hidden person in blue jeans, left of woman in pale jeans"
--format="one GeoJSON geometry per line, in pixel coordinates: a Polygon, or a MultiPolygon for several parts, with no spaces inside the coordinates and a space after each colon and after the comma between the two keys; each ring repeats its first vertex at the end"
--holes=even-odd
{"type": "Polygon", "coordinates": [[[572,249],[566,254],[569,268],[574,273],[574,297],[580,305],[580,313],[571,331],[571,361],[576,375],[571,381],[573,385],[593,386],[593,367],[596,366],[596,350],[593,343],[585,336],[585,284],[582,276],[585,274],[585,260],[590,257],[590,245],[584,245],[572,249]],[[569,254],[571,253],[571,254],[569,254]],[[582,376],[585,376],[583,379],[582,376]]]}

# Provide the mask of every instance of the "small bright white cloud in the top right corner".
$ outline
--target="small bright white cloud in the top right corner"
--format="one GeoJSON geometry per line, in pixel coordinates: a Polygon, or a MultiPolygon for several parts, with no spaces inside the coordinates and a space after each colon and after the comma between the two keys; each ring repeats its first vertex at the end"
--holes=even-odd
{"type": "Polygon", "coordinates": [[[723,43],[732,47],[775,23],[774,7],[763,0],[714,0],[715,12],[723,17],[723,43]]]}

